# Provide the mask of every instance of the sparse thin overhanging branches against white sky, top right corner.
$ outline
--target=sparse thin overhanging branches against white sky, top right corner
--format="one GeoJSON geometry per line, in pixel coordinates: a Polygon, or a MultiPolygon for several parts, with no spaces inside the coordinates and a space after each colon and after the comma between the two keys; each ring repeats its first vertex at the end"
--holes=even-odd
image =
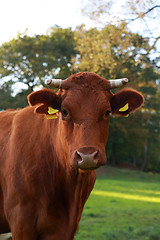
{"type": "Polygon", "coordinates": [[[96,27],[123,22],[130,30],[150,39],[151,53],[160,42],[160,4],[156,0],[88,0],[82,12],[96,27]]]}

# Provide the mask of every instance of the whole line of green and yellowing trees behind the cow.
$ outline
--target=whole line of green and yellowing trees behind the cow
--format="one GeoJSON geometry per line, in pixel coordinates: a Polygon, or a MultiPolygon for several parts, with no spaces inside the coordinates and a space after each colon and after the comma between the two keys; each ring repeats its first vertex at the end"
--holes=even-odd
{"type": "Polygon", "coordinates": [[[110,118],[108,162],[159,172],[159,56],[151,56],[151,50],[156,46],[151,48],[150,39],[124,21],[90,29],[54,26],[32,37],[18,34],[0,46],[0,109],[27,106],[27,95],[47,78],[65,79],[79,71],[106,79],[127,77],[128,87],[140,91],[145,102],[128,118],[110,118]]]}

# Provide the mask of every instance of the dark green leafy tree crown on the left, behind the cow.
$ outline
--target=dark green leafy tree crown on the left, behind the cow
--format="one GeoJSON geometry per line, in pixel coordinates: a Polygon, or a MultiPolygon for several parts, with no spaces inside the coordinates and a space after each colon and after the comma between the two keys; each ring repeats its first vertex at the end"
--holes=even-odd
{"type": "Polygon", "coordinates": [[[30,91],[44,84],[47,77],[70,74],[71,57],[76,54],[70,28],[50,28],[46,35],[30,37],[27,33],[0,47],[0,77],[21,82],[30,91]]]}

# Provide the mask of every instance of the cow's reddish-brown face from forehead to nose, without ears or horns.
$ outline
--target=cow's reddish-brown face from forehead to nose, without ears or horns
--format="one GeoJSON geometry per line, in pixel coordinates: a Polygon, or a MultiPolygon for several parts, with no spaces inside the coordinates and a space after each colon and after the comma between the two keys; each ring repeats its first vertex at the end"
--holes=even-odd
{"type": "Polygon", "coordinates": [[[61,138],[68,146],[72,165],[94,169],[105,164],[111,94],[86,84],[63,92],[61,97],[61,138]]]}

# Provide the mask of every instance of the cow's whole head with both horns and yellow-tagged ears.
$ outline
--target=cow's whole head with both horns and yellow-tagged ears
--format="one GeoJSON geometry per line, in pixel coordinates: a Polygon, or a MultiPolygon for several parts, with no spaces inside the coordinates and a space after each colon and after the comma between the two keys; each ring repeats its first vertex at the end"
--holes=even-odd
{"type": "Polygon", "coordinates": [[[57,94],[43,89],[28,96],[30,105],[36,105],[35,113],[56,121],[61,151],[74,168],[90,170],[105,164],[110,114],[127,116],[142,105],[142,95],[133,89],[110,91],[126,83],[127,79],[78,73],[64,81],[48,81],[61,89],[57,94]]]}

